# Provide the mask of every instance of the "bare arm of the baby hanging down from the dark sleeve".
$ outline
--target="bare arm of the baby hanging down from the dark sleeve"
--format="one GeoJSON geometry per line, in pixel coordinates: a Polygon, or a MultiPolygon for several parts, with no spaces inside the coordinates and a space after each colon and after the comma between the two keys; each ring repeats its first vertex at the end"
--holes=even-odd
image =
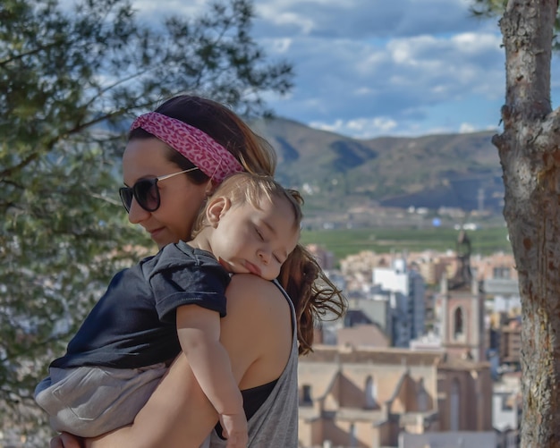
{"type": "Polygon", "coordinates": [[[200,388],[218,414],[227,447],[247,446],[242,394],[220,339],[220,317],[211,309],[185,305],[177,309],[177,334],[200,388]]]}

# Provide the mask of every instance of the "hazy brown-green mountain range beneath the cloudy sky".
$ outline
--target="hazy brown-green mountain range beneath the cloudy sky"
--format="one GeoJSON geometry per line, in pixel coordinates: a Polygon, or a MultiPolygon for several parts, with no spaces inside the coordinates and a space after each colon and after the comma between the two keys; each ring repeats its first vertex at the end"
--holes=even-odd
{"type": "Polygon", "coordinates": [[[251,127],[276,149],[278,178],[303,191],[308,211],[503,207],[495,132],[351,139],[283,118],[251,127]]]}

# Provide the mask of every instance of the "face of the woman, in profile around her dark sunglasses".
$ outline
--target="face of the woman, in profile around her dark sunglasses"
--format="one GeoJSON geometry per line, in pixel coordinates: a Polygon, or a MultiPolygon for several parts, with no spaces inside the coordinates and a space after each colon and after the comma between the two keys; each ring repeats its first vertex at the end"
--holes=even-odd
{"type": "MultiPolygon", "coordinates": [[[[169,148],[159,139],[132,139],[123,154],[123,182],[132,187],[140,179],[177,173],[182,168],[165,158],[169,148]]],[[[128,219],[140,224],[162,248],[165,244],[191,239],[191,228],[206,198],[207,184],[192,183],[187,174],[157,182],[161,205],[148,212],[132,199],[128,219]]]]}

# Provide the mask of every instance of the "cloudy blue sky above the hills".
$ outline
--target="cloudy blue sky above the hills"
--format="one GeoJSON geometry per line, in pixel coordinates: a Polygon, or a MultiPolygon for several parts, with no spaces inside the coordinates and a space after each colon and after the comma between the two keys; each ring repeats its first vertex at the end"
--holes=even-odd
{"type": "MultiPolygon", "coordinates": [[[[188,14],[204,3],[133,1],[144,14],[154,7],[188,14]]],[[[265,97],[276,115],[356,139],[500,130],[498,19],[473,18],[469,0],[253,4],[251,35],[271,61],[292,63],[295,73],[287,96],[265,97]]],[[[560,81],[553,106],[555,97],[560,81]]]]}

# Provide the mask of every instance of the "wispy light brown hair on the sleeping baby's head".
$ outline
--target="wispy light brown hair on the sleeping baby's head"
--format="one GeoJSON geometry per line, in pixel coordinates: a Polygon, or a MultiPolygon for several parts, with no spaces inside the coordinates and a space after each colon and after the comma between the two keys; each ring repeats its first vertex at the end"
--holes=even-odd
{"type": "Polygon", "coordinates": [[[274,203],[275,199],[287,200],[293,209],[293,228],[299,229],[301,224],[301,205],[303,198],[298,190],[284,189],[272,176],[254,173],[235,173],[228,176],[208,198],[207,206],[199,213],[197,222],[192,230],[195,237],[205,226],[208,225],[206,210],[212,198],[224,197],[231,201],[232,207],[249,203],[252,207],[260,209],[263,199],[274,203]]]}

